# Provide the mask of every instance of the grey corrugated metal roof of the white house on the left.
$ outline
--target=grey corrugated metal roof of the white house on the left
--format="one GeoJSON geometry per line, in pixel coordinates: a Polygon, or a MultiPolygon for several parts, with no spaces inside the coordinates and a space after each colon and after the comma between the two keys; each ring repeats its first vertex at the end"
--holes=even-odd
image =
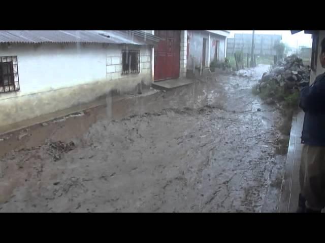
{"type": "MultiPolygon", "coordinates": [[[[131,30],[132,32],[132,30],[131,30]]],[[[0,43],[107,43],[154,45],[158,41],[120,30],[0,30],[0,43]],[[135,37],[135,36],[136,37],[135,37]]]]}

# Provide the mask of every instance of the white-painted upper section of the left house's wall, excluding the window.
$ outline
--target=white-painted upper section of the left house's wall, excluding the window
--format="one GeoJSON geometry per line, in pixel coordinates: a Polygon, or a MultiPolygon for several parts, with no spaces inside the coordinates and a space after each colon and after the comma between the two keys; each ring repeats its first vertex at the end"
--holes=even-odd
{"type": "Polygon", "coordinates": [[[17,56],[20,84],[20,91],[0,94],[0,100],[106,78],[106,48],[98,45],[12,45],[0,56],[17,56]]]}

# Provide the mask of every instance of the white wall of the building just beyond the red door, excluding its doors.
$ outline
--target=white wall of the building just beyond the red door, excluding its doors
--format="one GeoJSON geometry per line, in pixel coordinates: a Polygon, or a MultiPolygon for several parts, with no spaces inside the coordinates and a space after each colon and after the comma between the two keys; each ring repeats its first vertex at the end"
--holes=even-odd
{"type": "Polygon", "coordinates": [[[216,44],[219,43],[217,60],[223,61],[225,58],[225,36],[221,36],[207,31],[187,30],[189,41],[189,55],[187,58],[187,69],[192,69],[194,65],[201,65],[203,38],[207,39],[206,46],[206,66],[215,59],[216,44]]]}

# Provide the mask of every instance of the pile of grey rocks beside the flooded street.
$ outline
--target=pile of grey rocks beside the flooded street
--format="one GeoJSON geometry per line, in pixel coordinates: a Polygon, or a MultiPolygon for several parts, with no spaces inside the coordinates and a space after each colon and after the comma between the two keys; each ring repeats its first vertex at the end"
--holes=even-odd
{"type": "Polygon", "coordinates": [[[278,62],[277,67],[263,74],[259,80],[258,89],[276,84],[286,90],[300,90],[309,85],[310,67],[304,66],[303,60],[296,55],[291,55],[278,62]]]}

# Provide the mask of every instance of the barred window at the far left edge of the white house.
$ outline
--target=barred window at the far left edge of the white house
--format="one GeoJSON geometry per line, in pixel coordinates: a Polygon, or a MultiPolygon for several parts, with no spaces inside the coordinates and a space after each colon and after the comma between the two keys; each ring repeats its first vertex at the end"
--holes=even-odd
{"type": "Polygon", "coordinates": [[[0,57],[0,93],[19,90],[17,56],[0,57]]]}

